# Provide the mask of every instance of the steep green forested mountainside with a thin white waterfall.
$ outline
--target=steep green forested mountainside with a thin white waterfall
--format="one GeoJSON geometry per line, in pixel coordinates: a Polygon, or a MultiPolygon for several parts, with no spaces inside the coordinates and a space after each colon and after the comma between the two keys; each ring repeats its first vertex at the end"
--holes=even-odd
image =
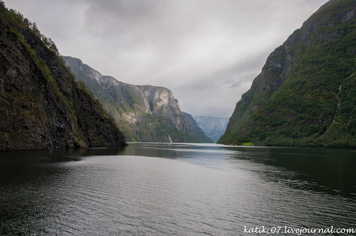
{"type": "Polygon", "coordinates": [[[356,1],[321,6],[267,58],[218,143],[356,148],[356,1]]]}

